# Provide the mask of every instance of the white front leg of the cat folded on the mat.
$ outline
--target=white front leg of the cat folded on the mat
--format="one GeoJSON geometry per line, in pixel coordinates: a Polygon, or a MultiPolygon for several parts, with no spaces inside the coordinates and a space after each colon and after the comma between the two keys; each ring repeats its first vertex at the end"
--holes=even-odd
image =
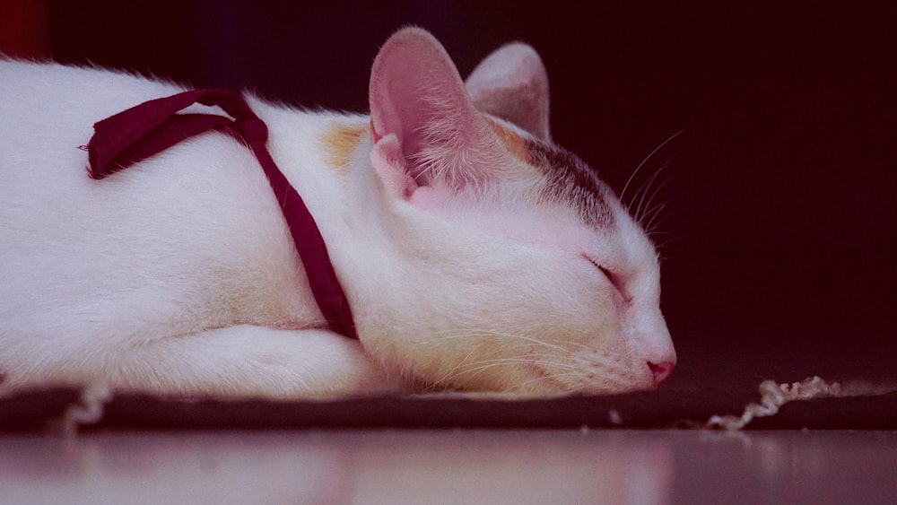
{"type": "Polygon", "coordinates": [[[403,390],[357,340],[249,325],[153,340],[126,352],[113,390],[175,396],[337,398],[403,390]]]}

